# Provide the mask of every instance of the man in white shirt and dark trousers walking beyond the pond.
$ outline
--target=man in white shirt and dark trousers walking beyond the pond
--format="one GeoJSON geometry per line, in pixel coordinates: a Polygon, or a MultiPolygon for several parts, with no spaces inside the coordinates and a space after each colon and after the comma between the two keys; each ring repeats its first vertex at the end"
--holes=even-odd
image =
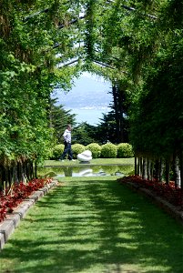
{"type": "Polygon", "coordinates": [[[72,127],[70,124],[68,124],[66,127],[66,130],[63,134],[65,148],[64,148],[64,152],[63,152],[62,156],[59,159],[61,161],[64,161],[66,154],[68,154],[68,160],[75,161],[73,159],[73,152],[72,152],[72,148],[71,148],[71,130],[72,130],[72,127]]]}

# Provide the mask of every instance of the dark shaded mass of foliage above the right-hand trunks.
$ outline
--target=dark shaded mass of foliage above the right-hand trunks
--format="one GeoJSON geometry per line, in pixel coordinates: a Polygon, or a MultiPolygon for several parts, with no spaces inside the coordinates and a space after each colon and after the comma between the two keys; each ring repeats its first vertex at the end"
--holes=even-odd
{"type": "Polygon", "coordinates": [[[131,140],[137,155],[172,157],[183,143],[181,59],[176,51],[173,57],[160,56],[157,72],[147,76],[131,116],[131,140]]]}

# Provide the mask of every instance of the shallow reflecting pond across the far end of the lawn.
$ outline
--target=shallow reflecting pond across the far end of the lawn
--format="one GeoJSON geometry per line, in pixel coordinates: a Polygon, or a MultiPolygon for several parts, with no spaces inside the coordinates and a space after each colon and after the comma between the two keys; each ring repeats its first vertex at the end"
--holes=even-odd
{"type": "Polygon", "coordinates": [[[37,167],[38,177],[124,177],[134,174],[132,165],[82,166],[82,167],[37,167]]]}

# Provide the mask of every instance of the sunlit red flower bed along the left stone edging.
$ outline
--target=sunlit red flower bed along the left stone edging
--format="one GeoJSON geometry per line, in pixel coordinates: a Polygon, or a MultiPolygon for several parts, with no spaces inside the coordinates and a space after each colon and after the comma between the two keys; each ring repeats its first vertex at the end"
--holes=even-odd
{"type": "Polygon", "coordinates": [[[26,184],[23,182],[20,182],[19,184],[15,183],[12,187],[0,192],[0,222],[5,220],[6,214],[13,212],[14,208],[26,197],[29,197],[34,191],[45,187],[51,182],[52,179],[50,178],[35,178],[26,184]]]}

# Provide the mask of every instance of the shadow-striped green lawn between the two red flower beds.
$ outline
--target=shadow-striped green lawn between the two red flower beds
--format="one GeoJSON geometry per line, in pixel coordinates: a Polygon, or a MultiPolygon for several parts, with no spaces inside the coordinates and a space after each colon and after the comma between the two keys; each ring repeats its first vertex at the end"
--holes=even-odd
{"type": "Polygon", "coordinates": [[[0,272],[182,272],[182,226],[116,179],[63,177],[15,229],[0,272]]]}

